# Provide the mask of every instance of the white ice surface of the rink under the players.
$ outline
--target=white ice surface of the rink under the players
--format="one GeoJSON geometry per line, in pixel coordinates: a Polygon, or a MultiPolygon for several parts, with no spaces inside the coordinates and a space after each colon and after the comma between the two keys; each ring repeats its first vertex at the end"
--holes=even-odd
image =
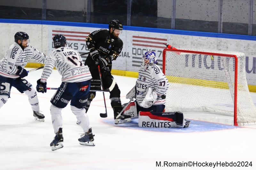
{"type": "MultiPolygon", "coordinates": [[[[29,69],[28,69],[29,70],[29,69]]],[[[42,70],[29,73],[27,80],[36,88],[36,80],[42,70]]],[[[136,78],[114,76],[121,90],[122,103],[136,78]]],[[[47,80],[48,87],[59,87],[60,75],[53,70],[47,80]]],[[[188,129],[143,129],[136,127],[136,120],[121,125],[114,124],[109,93],[105,93],[108,118],[103,95],[97,92],[88,111],[95,146],[83,146],[78,142],[82,128],[76,125],[76,117],[70,105],[62,110],[64,147],[52,151],[50,143],[55,136],[50,115],[50,99],[55,90],[39,93],[40,110],[45,122],[34,120],[25,94],[15,88],[11,98],[0,109],[0,169],[6,170],[70,170],[70,169],[212,169],[212,167],[156,167],[156,161],[169,162],[237,162],[256,163],[256,125],[234,127],[200,121],[191,121],[188,129]]],[[[254,103],[256,94],[251,93],[254,103]]],[[[215,167],[220,169],[224,167],[215,167]]],[[[234,169],[234,167],[225,167],[234,169]]]]}

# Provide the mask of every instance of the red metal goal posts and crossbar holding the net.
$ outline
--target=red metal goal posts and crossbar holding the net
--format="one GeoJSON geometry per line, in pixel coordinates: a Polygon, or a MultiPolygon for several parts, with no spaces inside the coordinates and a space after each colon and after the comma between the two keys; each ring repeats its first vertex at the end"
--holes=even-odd
{"type": "MultiPolygon", "coordinates": [[[[204,52],[204,51],[193,51],[193,50],[184,50],[184,49],[168,49],[165,48],[163,50],[163,73],[166,75],[166,53],[172,52],[175,57],[179,57],[181,54],[195,54],[195,55],[211,55],[211,56],[222,56],[222,57],[230,57],[235,60],[235,78],[234,78],[234,125],[237,126],[237,74],[238,74],[238,58],[236,55],[232,54],[222,54],[222,53],[212,53],[212,52],[204,52]],[[176,52],[176,53],[175,53],[176,52]]],[[[168,76],[168,75],[166,75],[168,76]]],[[[175,99],[173,99],[175,100],[175,99]]]]}

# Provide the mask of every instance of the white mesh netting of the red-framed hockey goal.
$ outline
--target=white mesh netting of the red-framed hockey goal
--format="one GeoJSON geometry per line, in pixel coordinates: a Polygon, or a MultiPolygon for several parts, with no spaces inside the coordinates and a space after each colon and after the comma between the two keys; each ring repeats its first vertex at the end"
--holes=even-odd
{"type": "MultiPolygon", "coordinates": [[[[184,50],[238,57],[237,123],[255,123],[256,108],[246,82],[244,53],[211,49],[184,50]]],[[[234,116],[235,58],[166,51],[165,76],[170,83],[165,111],[211,112],[234,116]]]]}

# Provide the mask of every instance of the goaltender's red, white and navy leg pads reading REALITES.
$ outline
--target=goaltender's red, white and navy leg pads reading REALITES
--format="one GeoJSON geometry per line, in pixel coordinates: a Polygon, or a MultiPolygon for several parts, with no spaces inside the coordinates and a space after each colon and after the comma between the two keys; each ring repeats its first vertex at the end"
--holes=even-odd
{"type": "MultiPolygon", "coordinates": [[[[125,106],[124,104],[123,106],[125,106]]],[[[186,128],[190,121],[184,119],[181,112],[144,112],[137,113],[137,103],[131,102],[125,109],[124,115],[131,119],[139,118],[139,127],[143,128],[186,128]]],[[[122,106],[122,107],[123,107],[122,106]]]]}

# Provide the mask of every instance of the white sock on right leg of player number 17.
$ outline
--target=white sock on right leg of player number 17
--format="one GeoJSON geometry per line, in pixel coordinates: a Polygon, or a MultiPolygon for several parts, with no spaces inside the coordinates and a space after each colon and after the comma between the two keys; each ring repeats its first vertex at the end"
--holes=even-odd
{"type": "Polygon", "coordinates": [[[74,113],[74,115],[76,115],[76,118],[78,120],[78,122],[81,122],[80,125],[85,132],[88,132],[88,130],[91,128],[90,126],[90,122],[89,122],[89,116],[85,113],[85,109],[79,109],[75,106],[70,106],[72,112],[74,113]]]}

